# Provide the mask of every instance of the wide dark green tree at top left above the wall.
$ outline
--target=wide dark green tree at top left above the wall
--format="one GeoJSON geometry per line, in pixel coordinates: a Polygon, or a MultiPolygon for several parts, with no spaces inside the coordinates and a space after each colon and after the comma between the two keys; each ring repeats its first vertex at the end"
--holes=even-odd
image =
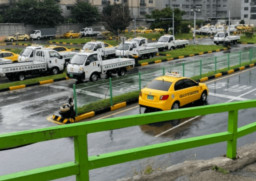
{"type": "Polygon", "coordinates": [[[54,0],[20,0],[3,13],[5,23],[24,23],[57,27],[63,21],[61,9],[54,0]]]}

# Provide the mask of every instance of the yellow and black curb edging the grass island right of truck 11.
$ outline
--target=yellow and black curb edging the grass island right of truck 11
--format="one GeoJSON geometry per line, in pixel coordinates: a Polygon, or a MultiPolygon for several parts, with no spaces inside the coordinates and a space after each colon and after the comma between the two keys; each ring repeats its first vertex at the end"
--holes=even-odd
{"type": "MultiPolygon", "coordinates": [[[[218,51],[228,50],[228,49],[230,49],[230,47],[223,48],[223,49],[212,50],[212,51],[207,51],[207,52],[200,52],[198,54],[190,54],[190,55],[178,56],[178,57],[174,57],[174,58],[167,58],[167,59],[163,59],[163,60],[155,60],[153,62],[145,62],[145,63],[137,64],[137,65],[135,65],[135,67],[145,66],[145,65],[154,64],[154,63],[160,63],[160,62],[167,62],[167,61],[170,61],[170,60],[182,59],[182,58],[185,58],[185,57],[190,57],[190,56],[195,56],[195,55],[210,54],[212,52],[218,52],[218,51]]],[[[171,56],[169,54],[160,54],[160,55],[162,55],[162,56],[171,56]]]]}

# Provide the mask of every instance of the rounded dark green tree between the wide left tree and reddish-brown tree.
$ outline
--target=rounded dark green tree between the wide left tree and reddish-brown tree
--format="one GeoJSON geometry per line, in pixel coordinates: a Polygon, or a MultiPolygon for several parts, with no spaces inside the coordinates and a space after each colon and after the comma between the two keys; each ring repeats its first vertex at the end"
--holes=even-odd
{"type": "Polygon", "coordinates": [[[78,23],[84,23],[86,26],[93,25],[100,20],[98,8],[85,1],[77,1],[76,6],[71,9],[71,14],[78,23]]]}

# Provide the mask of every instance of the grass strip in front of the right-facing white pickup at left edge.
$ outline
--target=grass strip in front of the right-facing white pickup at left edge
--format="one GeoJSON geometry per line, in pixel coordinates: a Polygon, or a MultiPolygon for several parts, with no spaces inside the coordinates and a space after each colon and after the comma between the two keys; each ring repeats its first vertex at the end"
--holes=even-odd
{"type": "Polygon", "coordinates": [[[65,72],[63,72],[62,74],[57,74],[57,75],[49,75],[49,76],[31,78],[31,79],[26,79],[26,80],[19,80],[19,81],[10,82],[10,83],[3,83],[3,84],[0,84],[0,89],[12,87],[12,86],[19,86],[19,85],[23,85],[23,84],[32,84],[32,83],[36,83],[36,82],[44,81],[44,80],[61,79],[66,76],[67,76],[67,74],[65,72]]]}

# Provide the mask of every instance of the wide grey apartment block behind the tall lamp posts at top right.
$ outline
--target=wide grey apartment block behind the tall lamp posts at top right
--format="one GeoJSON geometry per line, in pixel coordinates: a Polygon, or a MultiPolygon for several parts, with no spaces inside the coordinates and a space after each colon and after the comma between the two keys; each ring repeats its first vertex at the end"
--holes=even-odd
{"type": "MultiPolygon", "coordinates": [[[[207,20],[209,17],[228,17],[240,19],[241,0],[158,0],[157,9],[165,7],[179,8],[186,12],[183,19],[194,19],[194,12],[197,19],[207,20]],[[191,11],[191,10],[200,11],[191,11]]],[[[242,0],[243,1],[243,0],[242,0]]]]}

